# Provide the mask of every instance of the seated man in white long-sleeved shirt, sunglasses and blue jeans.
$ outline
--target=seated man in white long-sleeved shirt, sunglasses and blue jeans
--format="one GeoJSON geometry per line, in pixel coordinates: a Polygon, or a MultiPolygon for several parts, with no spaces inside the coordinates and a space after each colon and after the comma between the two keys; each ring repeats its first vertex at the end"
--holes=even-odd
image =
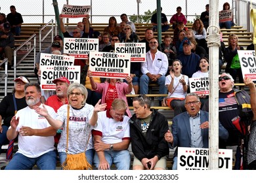
{"type": "MultiPolygon", "coordinates": [[[[148,93],[148,84],[154,82],[159,85],[159,93],[167,94],[165,87],[165,74],[168,69],[168,59],[166,54],[158,50],[158,40],[150,39],[150,51],[146,53],[146,62],[141,64],[142,76],[140,76],[140,94],[148,93]]],[[[159,97],[159,106],[161,106],[163,97],[159,97]]]]}

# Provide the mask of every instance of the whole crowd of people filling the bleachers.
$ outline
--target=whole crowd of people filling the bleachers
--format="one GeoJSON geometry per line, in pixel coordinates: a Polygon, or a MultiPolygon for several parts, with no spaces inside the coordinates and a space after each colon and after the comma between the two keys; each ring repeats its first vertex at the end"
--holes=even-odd
{"type": "MultiPolygon", "coordinates": [[[[223,10],[229,8],[226,3],[223,5],[223,10]]],[[[3,120],[0,151],[3,144],[14,139],[19,147],[5,169],[32,169],[37,165],[39,169],[52,170],[56,169],[58,158],[62,169],[68,169],[70,155],[85,154],[88,169],[94,165],[96,169],[108,170],[115,164],[117,169],[126,170],[131,166],[128,150],[131,143],[133,169],[167,169],[169,148],[176,148],[172,167],[175,170],[177,147],[209,148],[209,96],[190,92],[189,83],[189,78],[209,78],[211,69],[206,40],[209,5],[205,9],[192,28],[187,29],[182,8],[177,7],[177,13],[169,20],[174,35],[165,35],[163,42],[154,37],[159,25],[157,14],[153,14],[152,29],[146,29],[144,39],[136,34],[135,24],[126,14],[121,14],[120,24],[114,16],[110,17],[102,33],[93,30],[89,16],[77,22],[72,31],[66,30],[60,18],[64,37],[99,39],[100,52],[115,52],[116,42],[145,42],[146,61],[131,63],[131,74],[117,79],[95,77],[89,68],[89,59],[75,59],[74,65],[81,66],[80,83],[71,84],[63,76],[55,78],[56,90],[47,93],[39,85],[40,54],[63,54],[64,37],[56,35],[51,46],[37,53],[35,75],[38,82],[30,82],[24,76],[16,78],[14,92],[0,103],[0,120],[3,120]],[[167,97],[159,97],[159,106],[174,110],[171,129],[165,116],[150,108],[151,101],[146,94],[151,83],[158,84],[160,94],[167,94],[167,97]],[[131,92],[140,94],[133,97],[133,112],[129,110],[126,97],[131,92]]],[[[12,16],[18,14],[13,6],[11,13],[12,16]]],[[[0,35],[1,31],[10,33],[9,39],[13,37],[12,31],[18,35],[22,22],[3,23],[0,35]]],[[[233,24],[225,25],[228,29],[233,24]]],[[[161,31],[168,29],[168,20],[161,13],[161,31]]],[[[0,51],[1,48],[0,44],[0,51]]],[[[219,148],[235,145],[237,154],[241,154],[241,141],[249,131],[247,128],[246,134],[244,129],[240,131],[233,121],[240,118],[241,123],[251,126],[251,134],[255,135],[256,103],[253,99],[256,89],[251,79],[242,78],[241,69],[230,67],[237,50],[243,50],[238,37],[230,34],[228,47],[220,49],[223,53],[220,59],[227,65],[226,73],[219,76],[219,148]],[[244,90],[234,88],[237,76],[240,83],[249,87],[251,97],[244,90]],[[244,106],[247,108],[241,110],[244,106]]],[[[5,54],[8,56],[8,52],[5,54]]],[[[248,137],[246,161],[249,169],[256,169],[255,137],[248,137]]],[[[235,169],[240,169],[240,161],[241,158],[236,157],[235,169]]]]}

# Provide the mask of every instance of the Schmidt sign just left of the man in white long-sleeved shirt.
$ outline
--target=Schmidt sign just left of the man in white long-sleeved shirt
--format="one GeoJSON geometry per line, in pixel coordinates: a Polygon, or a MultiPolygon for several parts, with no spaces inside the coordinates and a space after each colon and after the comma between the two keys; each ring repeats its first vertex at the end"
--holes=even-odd
{"type": "Polygon", "coordinates": [[[117,42],[115,52],[131,54],[131,62],[146,61],[146,43],[145,42],[117,42]]]}

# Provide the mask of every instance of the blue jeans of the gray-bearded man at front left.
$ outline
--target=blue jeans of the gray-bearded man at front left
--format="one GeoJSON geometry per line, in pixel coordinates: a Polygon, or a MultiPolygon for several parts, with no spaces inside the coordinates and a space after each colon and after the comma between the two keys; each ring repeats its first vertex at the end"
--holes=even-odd
{"type": "Polygon", "coordinates": [[[37,158],[28,158],[23,154],[14,154],[12,160],[9,162],[5,170],[31,170],[34,165],[41,170],[55,170],[56,169],[56,151],[47,152],[37,158]]]}

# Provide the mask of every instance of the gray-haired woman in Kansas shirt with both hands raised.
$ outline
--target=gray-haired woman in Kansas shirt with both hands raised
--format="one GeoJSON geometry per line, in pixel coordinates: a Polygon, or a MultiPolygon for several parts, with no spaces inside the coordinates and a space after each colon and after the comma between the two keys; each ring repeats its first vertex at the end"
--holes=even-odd
{"type": "Polygon", "coordinates": [[[93,107],[85,103],[87,89],[82,84],[74,82],[68,87],[68,105],[62,105],[58,109],[56,119],[49,116],[45,107],[35,107],[35,111],[48,120],[55,129],[63,128],[57,150],[60,163],[64,163],[67,154],[78,154],[85,152],[88,163],[93,163],[93,142],[91,129],[96,125],[99,111],[103,111],[106,104],[100,105],[100,100],[93,107]],[[68,110],[69,108],[69,110],[68,110]],[[69,117],[68,117],[69,116],[69,117]],[[68,144],[67,144],[68,131],[68,144]],[[89,141],[90,140],[90,141],[89,141]]]}

